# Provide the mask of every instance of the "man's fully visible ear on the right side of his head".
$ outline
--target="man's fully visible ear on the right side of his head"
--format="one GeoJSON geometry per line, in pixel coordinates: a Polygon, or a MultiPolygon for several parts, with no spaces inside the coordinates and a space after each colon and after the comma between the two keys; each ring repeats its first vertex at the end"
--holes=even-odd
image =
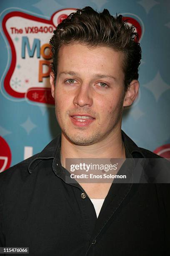
{"type": "Polygon", "coordinates": [[[138,80],[133,80],[130,83],[127,92],[125,93],[123,107],[132,105],[132,103],[134,102],[134,100],[138,94],[138,90],[139,90],[139,82],[138,82],[138,80]]]}

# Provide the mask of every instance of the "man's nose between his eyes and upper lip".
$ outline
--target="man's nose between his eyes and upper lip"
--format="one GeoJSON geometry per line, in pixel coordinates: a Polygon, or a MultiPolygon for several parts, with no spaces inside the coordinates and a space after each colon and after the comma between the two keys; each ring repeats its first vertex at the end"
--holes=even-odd
{"type": "Polygon", "coordinates": [[[92,105],[92,91],[89,84],[81,84],[76,90],[73,100],[74,105],[84,107],[92,105]]]}

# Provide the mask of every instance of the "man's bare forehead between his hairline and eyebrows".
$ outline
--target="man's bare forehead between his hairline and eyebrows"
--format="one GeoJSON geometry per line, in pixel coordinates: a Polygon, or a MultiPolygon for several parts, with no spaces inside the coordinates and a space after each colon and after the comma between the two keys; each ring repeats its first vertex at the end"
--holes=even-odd
{"type": "Polygon", "coordinates": [[[62,45],[57,60],[57,76],[103,78],[116,81],[124,76],[122,52],[106,46],[91,48],[84,44],[62,45]],[[97,50],[96,50],[97,49],[97,50]]]}

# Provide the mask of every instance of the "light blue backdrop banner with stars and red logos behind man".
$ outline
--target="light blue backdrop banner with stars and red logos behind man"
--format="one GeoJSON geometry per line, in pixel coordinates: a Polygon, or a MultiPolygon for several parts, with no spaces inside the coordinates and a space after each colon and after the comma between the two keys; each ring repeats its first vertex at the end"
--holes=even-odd
{"type": "Polygon", "coordinates": [[[0,1],[0,172],[41,151],[59,132],[50,92],[49,40],[76,8],[107,8],[136,27],[140,91],[122,129],[138,146],[170,158],[170,2],[155,0],[0,1]]]}

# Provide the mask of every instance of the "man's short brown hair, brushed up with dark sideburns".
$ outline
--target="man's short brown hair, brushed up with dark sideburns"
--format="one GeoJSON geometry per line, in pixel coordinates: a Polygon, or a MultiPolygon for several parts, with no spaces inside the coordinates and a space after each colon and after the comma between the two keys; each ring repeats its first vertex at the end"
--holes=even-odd
{"type": "Polygon", "coordinates": [[[124,53],[122,64],[125,74],[125,91],[133,79],[138,79],[141,48],[135,26],[122,20],[122,15],[113,17],[107,9],[97,13],[90,6],[77,9],[57,26],[50,39],[52,71],[57,77],[58,51],[64,44],[79,42],[89,47],[105,46],[124,53]]]}

